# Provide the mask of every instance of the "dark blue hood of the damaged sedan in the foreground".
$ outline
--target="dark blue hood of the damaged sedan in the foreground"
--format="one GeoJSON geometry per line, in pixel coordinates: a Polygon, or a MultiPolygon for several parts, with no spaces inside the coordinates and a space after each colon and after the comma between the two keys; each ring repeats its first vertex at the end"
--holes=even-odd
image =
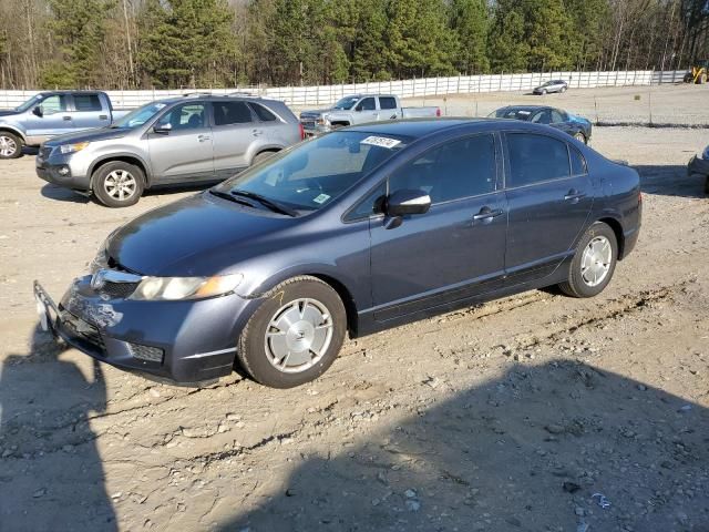
{"type": "Polygon", "coordinates": [[[150,211],[109,238],[109,256],[141,275],[210,276],[263,252],[298,223],[217,198],[208,191],[150,211]]]}

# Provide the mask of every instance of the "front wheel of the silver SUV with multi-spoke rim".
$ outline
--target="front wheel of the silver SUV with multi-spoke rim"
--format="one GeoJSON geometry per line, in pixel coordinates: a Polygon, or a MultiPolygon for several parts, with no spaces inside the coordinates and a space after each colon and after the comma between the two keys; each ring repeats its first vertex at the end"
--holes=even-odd
{"type": "Polygon", "coordinates": [[[135,205],[145,188],[143,171],[123,161],[112,161],[93,173],[92,188],[99,202],[106,207],[135,205]]]}

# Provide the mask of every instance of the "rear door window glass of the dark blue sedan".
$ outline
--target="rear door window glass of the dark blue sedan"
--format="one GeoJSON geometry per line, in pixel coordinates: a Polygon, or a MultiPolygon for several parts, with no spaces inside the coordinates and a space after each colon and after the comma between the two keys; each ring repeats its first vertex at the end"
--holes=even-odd
{"type": "Polygon", "coordinates": [[[524,186],[571,175],[565,142],[551,136],[507,133],[510,185],[524,186]]]}

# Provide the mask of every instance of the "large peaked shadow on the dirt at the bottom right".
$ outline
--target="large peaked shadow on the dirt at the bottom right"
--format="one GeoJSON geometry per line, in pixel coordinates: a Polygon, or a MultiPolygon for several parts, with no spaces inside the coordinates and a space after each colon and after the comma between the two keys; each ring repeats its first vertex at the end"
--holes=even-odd
{"type": "Polygon", "coordinates": [[[354,446],[304,456],[219,530],[709,530],[706,409],[568,360],[451,395],[414,395],[382,432],[354,423],[354,446]]]}

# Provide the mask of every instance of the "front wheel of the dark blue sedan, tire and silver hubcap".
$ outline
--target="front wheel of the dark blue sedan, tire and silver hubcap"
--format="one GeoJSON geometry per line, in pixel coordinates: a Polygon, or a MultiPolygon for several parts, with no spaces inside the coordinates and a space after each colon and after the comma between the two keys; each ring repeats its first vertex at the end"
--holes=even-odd
{"type": "Polygon", "coordinates": [[[346,331],[347,314],[337,291],[316,277],[294,277],[269,290],[250,317],[238,339],[237,361],[264,386],[292,388],[330,367],[346,331]]]}

